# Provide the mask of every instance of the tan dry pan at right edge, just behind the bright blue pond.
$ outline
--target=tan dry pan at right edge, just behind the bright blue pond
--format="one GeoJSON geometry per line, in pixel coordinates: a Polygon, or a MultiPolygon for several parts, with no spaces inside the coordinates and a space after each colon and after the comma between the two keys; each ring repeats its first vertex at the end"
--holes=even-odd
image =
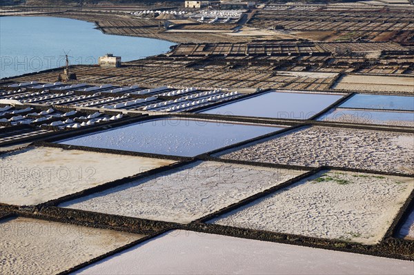
{"type": "Polygon", "coordinates": [[[335,85],[336,90],[372,92],[413,92],[413,77],[347,74],[335,85]]]}

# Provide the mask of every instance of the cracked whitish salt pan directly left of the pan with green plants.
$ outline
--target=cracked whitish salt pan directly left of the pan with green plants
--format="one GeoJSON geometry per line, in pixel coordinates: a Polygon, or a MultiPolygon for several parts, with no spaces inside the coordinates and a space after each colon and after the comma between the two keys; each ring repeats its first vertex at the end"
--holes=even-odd
{"type": "Polygon", "coordinates": [[[168,174],[132,181],[60,206],[190,223],[303,173],[297,170],[197,162],[168,174]]]}

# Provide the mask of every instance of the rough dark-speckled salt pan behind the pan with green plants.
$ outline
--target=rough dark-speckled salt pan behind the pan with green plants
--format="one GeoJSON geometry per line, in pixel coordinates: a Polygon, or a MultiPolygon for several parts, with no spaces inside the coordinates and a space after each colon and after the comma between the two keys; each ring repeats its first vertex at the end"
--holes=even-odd
{"type": "Polygon", "coordinates": [[[311,127],[221,156],[265,163],[330,165],[414,174],[414,134],[311,127]]]}

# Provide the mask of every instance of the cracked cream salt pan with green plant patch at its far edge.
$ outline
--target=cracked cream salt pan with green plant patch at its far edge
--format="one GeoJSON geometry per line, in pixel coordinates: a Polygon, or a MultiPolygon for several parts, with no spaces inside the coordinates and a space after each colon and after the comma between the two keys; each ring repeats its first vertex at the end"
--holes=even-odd
{"type": "Polygon", "coordinates": [[[413,189],[408,177],[325,171],[210,223],[374,244],[413,189]]]}

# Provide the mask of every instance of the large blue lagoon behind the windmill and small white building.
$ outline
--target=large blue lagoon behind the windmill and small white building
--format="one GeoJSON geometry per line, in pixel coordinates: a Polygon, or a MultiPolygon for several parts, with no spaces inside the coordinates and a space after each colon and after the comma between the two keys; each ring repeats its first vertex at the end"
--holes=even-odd
{"type": "Polygon", "coordinates": [[[0,79],[57,68],[65,63],[96,64],[111,52],[131,61],[168,52],[168,41],[103,34],[95,24],[56,17],[0,17],[0,79]]]}

